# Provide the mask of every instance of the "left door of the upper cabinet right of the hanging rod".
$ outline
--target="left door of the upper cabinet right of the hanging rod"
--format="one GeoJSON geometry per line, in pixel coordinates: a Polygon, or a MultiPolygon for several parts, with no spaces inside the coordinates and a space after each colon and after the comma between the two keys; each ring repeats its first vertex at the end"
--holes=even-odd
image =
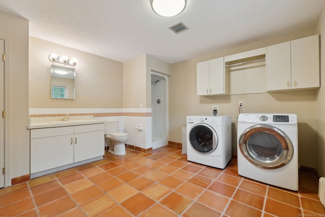
{"type": "Polygon", "coordinates": [[[290,42],[267,47],[267,90],[291,88],[290,42]]]}

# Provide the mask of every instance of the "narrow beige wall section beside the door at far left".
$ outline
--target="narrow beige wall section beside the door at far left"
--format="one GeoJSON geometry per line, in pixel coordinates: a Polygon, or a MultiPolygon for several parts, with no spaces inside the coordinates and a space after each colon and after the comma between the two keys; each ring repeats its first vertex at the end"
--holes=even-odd
{"type": "MultiPolygon", "coordinates": [[[[29,174],[28,20],[0,11],[0,38],[5,39],[6,141],[10,149],[9,178],[29,174]]],[[[2,138],[2,136],[1,136],[2,138]]],[[[5,150],[7,153],[8,150],[5,150]]],[[[3,151],[1,151],[3,154],[3,151]]],[[[8,158],[6,158],[8,160],[8,158]]],[[[8,160],[8,161],[9,161],[8,160]]],[[[5,165],[8,166],[8,165],[5,165]]],[[[5,183],[8,186],[8,183],[5,183]]],[[[9,183],[11,184],[11,183],[9,183]]]]}

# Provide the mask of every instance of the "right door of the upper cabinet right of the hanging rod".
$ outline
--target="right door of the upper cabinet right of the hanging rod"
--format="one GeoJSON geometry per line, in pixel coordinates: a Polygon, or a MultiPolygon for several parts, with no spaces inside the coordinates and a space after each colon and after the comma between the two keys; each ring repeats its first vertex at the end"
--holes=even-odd
{"type": "Polygon", "coordinates": [[[319,36],[291,41],[291,88],[319,87],[319,36]]]}

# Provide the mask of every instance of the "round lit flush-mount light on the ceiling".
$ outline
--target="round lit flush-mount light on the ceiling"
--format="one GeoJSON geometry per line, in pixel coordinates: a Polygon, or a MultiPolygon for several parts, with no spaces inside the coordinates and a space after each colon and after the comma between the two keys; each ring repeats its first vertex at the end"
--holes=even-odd
{"type": "Polygon", "coordinates": [[[152,10],[163,17],[180,14],[186,6],[186,0],[151,0],[152,10]]]}

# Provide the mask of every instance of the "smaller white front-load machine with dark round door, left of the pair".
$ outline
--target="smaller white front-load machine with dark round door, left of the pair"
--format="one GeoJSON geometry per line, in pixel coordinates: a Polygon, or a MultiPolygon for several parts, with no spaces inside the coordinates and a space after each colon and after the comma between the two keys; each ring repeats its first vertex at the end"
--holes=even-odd
{"type": "Polygon", "coordinates": [[[223,169],[232,158],[232,121],[225,115],[187,116],[187,160],[223,169]]]}

